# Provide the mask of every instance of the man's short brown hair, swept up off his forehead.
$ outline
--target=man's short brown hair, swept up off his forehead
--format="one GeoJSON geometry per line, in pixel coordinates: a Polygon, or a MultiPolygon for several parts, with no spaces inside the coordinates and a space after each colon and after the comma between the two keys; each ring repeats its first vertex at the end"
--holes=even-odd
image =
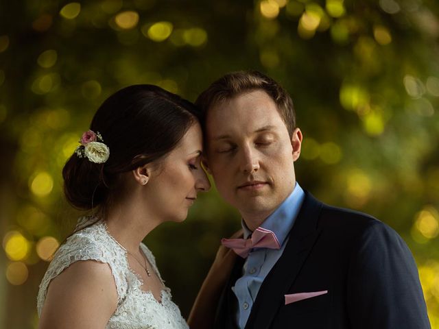
{"type": "Polygon", "coordinates": [[[254,90],[263,90],[273,99],[283,122],[287,126],[289,137],[292,137],[294,128],[296,128],[296,113],[294,112],[291,97],[280,84],[258,71],[228,73],[204,90],[195,101],[195,105],[203,113],[202,124],[204,125],[207,112],[213,106],[254,90]]]}

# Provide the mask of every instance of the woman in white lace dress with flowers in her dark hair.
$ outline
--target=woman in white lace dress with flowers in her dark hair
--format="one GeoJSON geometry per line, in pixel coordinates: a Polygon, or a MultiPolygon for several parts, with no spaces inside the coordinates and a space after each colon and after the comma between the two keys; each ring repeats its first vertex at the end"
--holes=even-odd
{"type": "MultiPolygon", "coordinates": [[[[185,220],[210,188],[198,119],[192,103],[151,85],[123,88],[100,106],[62,170],[69,203],[93,215],[78,221],[45,273],[40,328],[188,328],[141,241],[185,220]]],[[[231,257],[217,254],[194,324],[211,321],[231,257]]]]}

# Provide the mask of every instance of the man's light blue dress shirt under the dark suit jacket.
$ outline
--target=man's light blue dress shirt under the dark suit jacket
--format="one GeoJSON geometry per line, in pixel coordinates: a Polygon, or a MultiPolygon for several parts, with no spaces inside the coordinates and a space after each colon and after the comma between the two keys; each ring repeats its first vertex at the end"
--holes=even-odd
{"type": "MultiPolygon", "coordinates": [[[[281,257],[285,245],[288,241],[289,230],[294,225],[296,217],[302,206],[305,193],[296,183],[292,193],[285,199],[272,215],[267,217],[261,224],[261,228],[271,230],[281,244],[281,249],[254,248],[242,268],[242,276],[235,282],[232,287],[233,293],[238,299],[237,310],[235,313],[236,323],[239,328],[244,329],[246,326],[250,310],[258,294],[259,288],[274,264],[281,257]]],[[[244,239],[247,239],[252,231],[248,229],[244,220],[241,220],[244,229],[244,239]]]]}

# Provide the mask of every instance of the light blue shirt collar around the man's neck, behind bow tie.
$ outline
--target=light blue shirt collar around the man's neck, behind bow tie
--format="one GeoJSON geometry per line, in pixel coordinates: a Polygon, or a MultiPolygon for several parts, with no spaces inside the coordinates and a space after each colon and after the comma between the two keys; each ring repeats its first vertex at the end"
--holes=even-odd
{"type": "MultiPolygon", "coordinates": [[[[263,221],[261,228],[274,232],[279,243],[283,245],[289,230],[292,229],[294,221],[296,221],[303,199],[305,199],[305,192],[296,182],[292,193],[263,221]]],[[[241,226],[244,230],[244,239],[248,239],[252,231],[247,227],[244,219],[241,219],[241,226]]]]}

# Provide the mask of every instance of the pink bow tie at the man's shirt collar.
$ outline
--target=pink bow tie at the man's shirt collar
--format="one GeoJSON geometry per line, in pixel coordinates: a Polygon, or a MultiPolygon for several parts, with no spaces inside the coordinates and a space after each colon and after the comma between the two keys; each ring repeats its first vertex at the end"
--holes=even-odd
{"type": "Polygon", "coordinates": [[[252,248],[281,249],[281,244],[274,232],[257,228],[249,239],[222,239],[222,245],[233,249],[239,256],[246,258],[252,248]]]}

